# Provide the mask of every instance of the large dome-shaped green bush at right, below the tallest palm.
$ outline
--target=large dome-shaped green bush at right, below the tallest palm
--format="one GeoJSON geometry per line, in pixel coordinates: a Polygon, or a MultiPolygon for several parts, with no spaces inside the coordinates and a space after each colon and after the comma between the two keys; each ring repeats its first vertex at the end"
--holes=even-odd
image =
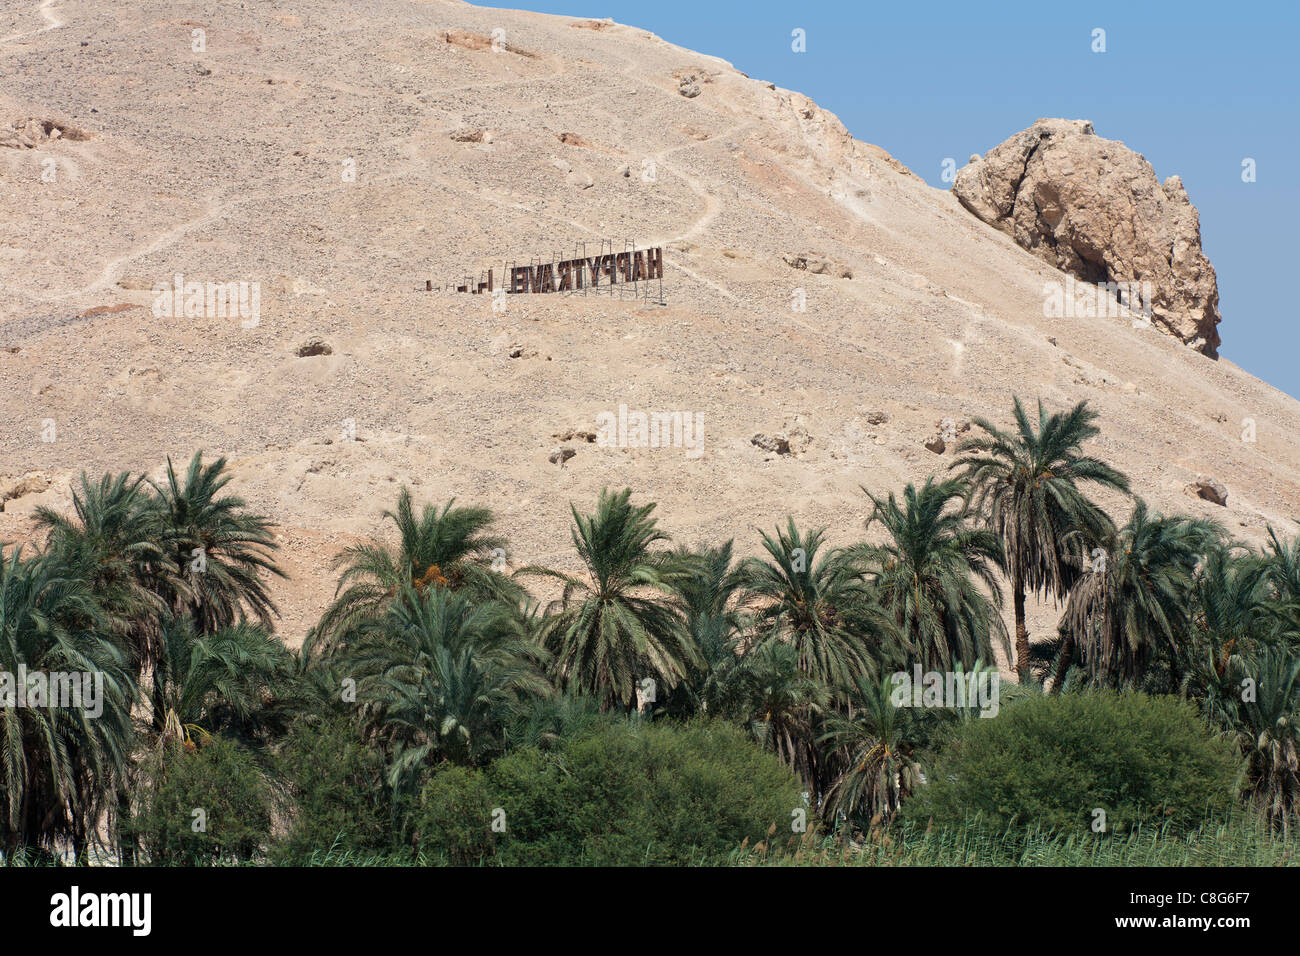
{"type": "Polygon", "coordinates": [[[1195,829],[1234,804],[1239,758],[1173,697],[1114,691],[1031,697],[961,726],[904,805],[941,827],[1108,832],[1195,829]]]}

